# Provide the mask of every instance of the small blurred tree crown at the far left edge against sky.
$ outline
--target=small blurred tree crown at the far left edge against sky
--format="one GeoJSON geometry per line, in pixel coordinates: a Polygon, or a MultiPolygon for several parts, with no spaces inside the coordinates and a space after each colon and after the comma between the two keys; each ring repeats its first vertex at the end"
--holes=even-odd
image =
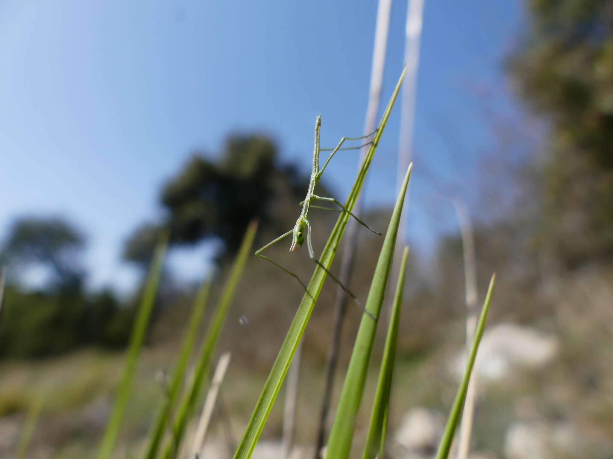
{"type": "Polygon", "coordinates": [[[78,291],[84,275],[84,245],[85,237],[61,218],[22,217],[9,229],[2,258],[17,268],[44,266],[52,274],[51,289],[78,291]]]}

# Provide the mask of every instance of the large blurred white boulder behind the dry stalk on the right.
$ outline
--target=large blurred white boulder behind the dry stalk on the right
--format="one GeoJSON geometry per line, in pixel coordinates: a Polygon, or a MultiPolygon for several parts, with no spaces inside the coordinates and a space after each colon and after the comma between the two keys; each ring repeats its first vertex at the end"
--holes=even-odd
{"type": "MultiPolygon", "coordinates": [[[[502,379],[517,367],[539,368],[557,356],[558,339],[531,327],[503,323],[486,329],[479,345],[476,367],[487,379],[502,379]]],[[[454,362],[460,377],[466,366],[463,352],[454,362]]]]}

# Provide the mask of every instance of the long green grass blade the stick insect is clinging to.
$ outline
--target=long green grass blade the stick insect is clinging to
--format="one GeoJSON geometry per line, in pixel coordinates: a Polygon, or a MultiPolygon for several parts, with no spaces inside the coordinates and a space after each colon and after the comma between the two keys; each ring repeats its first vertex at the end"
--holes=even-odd
{"type": "MultiPolygon", "coordinates": [[[[353,209],[357,196],[359,195],[362,185],[364,184],[366,173],[370,167],[373,156],[375,155],[376,147],[379,144],[379,140],[381,139],[381,135],[383,134],[383,130],[387,124],[387,119],[389,119],[389,114],[392,111],[396,96],[400,90],[400,84],[402,84],[402,80],[405,76],[405,70],[403,70],[402,75],[400,75],[400,79],[398,80],[396,88],[394,89],[394,93],[392,94],[389,103],[387,103],[386,110],[384,111],[381,122],[379,123],[378,131],[375,138],[373,138],[373,143],[368,149],[364,163],[362,163],[362,166],[358,171],[356,181],[351,188],[351,192],[349,192],[349,197],[345,203],[345,207],[349,209],[349,211],[353,209]]],[[[321,261],[321,263],[327,269],[329,269],[330,265],[332,264],[332,260],[334,259],[334,255],[337,251],[338,245],[340,244],[341,237],[343,236],[348,220],[349,215],[346,214],[346,212],[340,214],[337,224],[334,226],[332,234],[330,234],[328,242],[326,243],[326,247],[324,247],[324,251],[319,258],[319,261],[321,261]]],[[[294,357],[294,353],[298,347],[300,338],[302,338],[302,334],[307,327],[308,319],[311,316],[311,312],[313,311],[313,307],[319,296],[319,292],[324,285],[324,280],[326,280],[326,271],[324,271],[321,266],[317,266],[313,272],[311,281],[308,284],[308,291],[310,294],[305,293],[305,295],[302,297],[302,302],[300,302],[300,306],[298,307],[296,315],[294,316],[294,320],[289,326],[289,330],[285,340],[283,341],[283,345],[281,345],[281,349],[276,357],[272,370],[270,371],[270,375],[268,375],[268,379],[264,384],[262,394],[260,395],[256,408],[251,415],[251,420],[249,420],[249,424],[245,430],[243,439],[241,440],[240,444],[238,445],[238,449],[234,454],[234,459],[248,459],[251,457],[251,453],[256,447],[257,440],[259,439],[262,429],[264,428],[268,413],[270,413],[273,403],[275,403],[276,396],[281,389],[281,384],[283,384],[283,379],[287,373],[287,368],[289,368],[289,364],[292,361],[292,357],[294,357]]]]}

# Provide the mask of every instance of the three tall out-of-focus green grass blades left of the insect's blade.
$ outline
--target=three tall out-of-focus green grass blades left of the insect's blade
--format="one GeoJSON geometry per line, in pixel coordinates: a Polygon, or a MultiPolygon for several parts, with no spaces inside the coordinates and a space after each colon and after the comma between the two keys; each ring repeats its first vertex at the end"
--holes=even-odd
{"type": "MultiPolygon", "coordinates": [[[[189,363],[189,357],[194,351],[196,344],[197,334],[204,316],[205,305],[208,299],[208,293],[210,291],[210,281],[205,281],[199,289],[186,326],[185,338],[181,345],[180,353],[177,359],[177,364],[173,370],[170,383],[166,387],[166,397],[161,403],[158,410],[158,414],[155,417],[150,435],[147,441],[147,447],[143,452],[143,459],[155,459],[159,456],[162,439],[164,433],[167,430],[167,425],[170,424],[170,438],[166,442],[164,452],[161,457],[164,459],[170,459],[171,457],[177,457],[178,451],[180,451],[181,442],[185,434],[186,426],[191,420],[192,414],[196,405],[199,403],[204,390],[205,381],[207,379],[208,368],[210,366],[211,358],[215,353],[221,331],[226,323],[227,313],[229,307],[234,299],[234,294],[237,289],[238,282],[242,277],[245,269],[245,264],[248,259],[249,252],[255,238],[257,231],[257,222],[251,222],[245,232],[245,237],[238,250],[237,256],[230,269],[230,274],[224,286],[221,297],[213,318],[208,327],[207,333],[196,357],[196,367],[194,368],[194,375],[192,376],[188,387],[182,392],[183,382],[185,380],[186,370],[189,363]],[[177,409],[176,416],[171,416],[171,413],[175,409],[177,400],[181,397],[180,404],[177,409]]],[[[139,357],[140,349],[142,348],[145,332],[149,323],[151,310],[153,308],[153,302],[156,296],[158,287],[159,276],[162,271],[162,264],[164,260],[164,253],[166,252],[168,234],[164,233],[160,237],[158,247],[151,263],[150,274],[148,275],[147,286],[145,293],[143,294],[143,300],[141,307],[139,308],[139,315],[134,324],[134,330],[132,332],[132,338],[128,350],[128,360],[124,369],[123,377],[121,379],[120,389],[118,390],[118,396],[113,407],[113,411],[109,422],[107,424],[107,430],[105,431],[104,438],[99,450],[99,459],[109,459],[113,453],[116,438],[121,427],[121,420],[123,418],[124,411],[128,404],[128,397],[131,391],[132,380],[134,379],[134,371],[139,357]]]]}

